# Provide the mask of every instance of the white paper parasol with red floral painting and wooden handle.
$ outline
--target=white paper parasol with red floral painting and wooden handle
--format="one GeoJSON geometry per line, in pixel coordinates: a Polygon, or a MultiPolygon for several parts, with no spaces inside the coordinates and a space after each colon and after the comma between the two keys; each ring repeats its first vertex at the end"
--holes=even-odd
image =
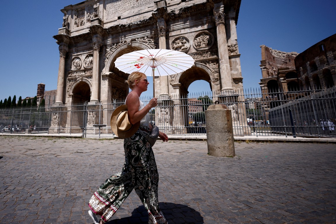
{"type": "Polygon", "coordinates": [[[154,76],[168,76],[184,72],[194,65],[195,60],[186,53],[167,49],[146,49],[123,54],[114,62],[115,67],[126,74],[142,72],[153,76],[153,97],[155,97],[154,76]]]}

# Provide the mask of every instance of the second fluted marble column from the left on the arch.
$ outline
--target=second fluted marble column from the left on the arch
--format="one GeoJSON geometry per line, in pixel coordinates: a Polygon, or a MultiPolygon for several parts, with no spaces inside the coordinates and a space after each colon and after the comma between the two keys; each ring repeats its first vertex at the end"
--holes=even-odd
{"type": "Polygon", "coordinates": [[[92,89],[91,89],[91,102],[99,101],[99,48],[101,43],[93,42],[93,66],[92,66],[92,89]]]}

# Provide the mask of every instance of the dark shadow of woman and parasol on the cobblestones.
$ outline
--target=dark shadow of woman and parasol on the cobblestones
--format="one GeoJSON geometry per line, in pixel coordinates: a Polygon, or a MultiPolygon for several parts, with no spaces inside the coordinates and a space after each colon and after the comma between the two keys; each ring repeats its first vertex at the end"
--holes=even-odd
{"type": "MultiPolygon", "coordinates": [[[[159,203],[162,213],[167,219],[169,224],[175,223],[194,223],[203,224],[203,217],[195,209],[192,209],[186,205],[174,204],[174,203],[159,203]]],[[[144,206],[140,206],[132,211],[131,217],[125,217],[121,219],[115,219],[107,222],[106,224],[147,224],[148,213],[144,206]]]]}

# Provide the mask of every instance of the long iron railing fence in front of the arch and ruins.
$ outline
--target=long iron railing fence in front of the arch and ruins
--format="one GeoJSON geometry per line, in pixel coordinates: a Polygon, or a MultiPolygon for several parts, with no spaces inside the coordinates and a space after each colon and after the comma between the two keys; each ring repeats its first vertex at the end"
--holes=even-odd
{"type": "MultiPolygon", "coordinates": [[[[151,98],[140,100],[146,105],[151,98]]],[[[206,135],[205,110],[215,101],[231,109],[235,136],[336,137],[336,87],[318,92],[249,89],[159,96],[150,121],[168,135],[206,135]]],[[[0,109],[0,132],[113,137],[110,118],[123,103],[124,99],[113,99],[0,109]]]]}

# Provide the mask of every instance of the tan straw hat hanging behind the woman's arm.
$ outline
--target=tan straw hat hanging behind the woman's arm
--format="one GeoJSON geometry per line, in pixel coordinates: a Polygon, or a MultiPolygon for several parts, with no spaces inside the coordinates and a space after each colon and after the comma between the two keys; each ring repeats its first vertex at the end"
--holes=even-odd
{"type": "Polygon", "coordinates": [[[140,127],[140,121],[132,124],[128,118],[127,105],[118,106],[111,116],[111,129],[119,138],[129,138],[140,127]]]}

